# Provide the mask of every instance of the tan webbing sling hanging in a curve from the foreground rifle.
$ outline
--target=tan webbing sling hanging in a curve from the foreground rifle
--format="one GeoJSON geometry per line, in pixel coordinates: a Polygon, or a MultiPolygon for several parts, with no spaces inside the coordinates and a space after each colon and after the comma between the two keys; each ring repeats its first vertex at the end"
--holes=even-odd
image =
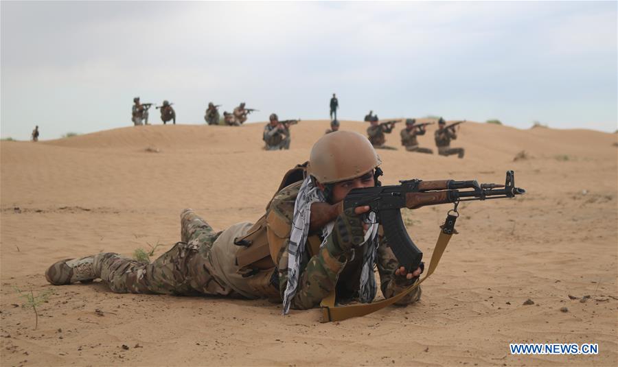
{"type": "Polygon", "coordinates": [[[398,300],[404,298],[412,292],[416,287],[423,283],[425,279],[427,279],[435,269],[437,268],[437,264],[446,250],[446,245],[448,245],[448,241],[450,241],[450,237],[453,236],[453,228],[455,227],[455,219],[456,217],[452,215],[448,215],[443,228],[440,230],[440,235],[435,244],[435,248],[433,249],[433,254],[431,255],[431,262],[429,263],[429,267],[424,277],[422,277],[419,281],[414,283],[413,285],[404,289],[403,292],[393,296],[391,298],[387,298],[385,300],[380,300],[374,303],[363,303],[360,305],[349,305],[349,306],[341,306],[335,307],[335,292],[331,292],[326,298],[322,300],[320,303],[320,307],[322,310],[322,320],[321,322],[332,322],[332,321],[341,321],[347,318],[354,318],[358,316],[365,316],[369,313],[378,311],[383,309],[384,307],[390,306],[393,303],[396,303],[398,300]]]}

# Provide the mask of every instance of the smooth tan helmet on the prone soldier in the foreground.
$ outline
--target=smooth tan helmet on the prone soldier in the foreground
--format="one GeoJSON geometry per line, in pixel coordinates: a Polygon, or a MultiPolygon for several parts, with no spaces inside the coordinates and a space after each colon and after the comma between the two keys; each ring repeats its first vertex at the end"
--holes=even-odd
{"type": "Polygon", "coordinates": [[[315,142],[307,171],[321,184],[328,184],[363,176],[380,164],[380,156],[366,137],[354,131],[336,131],[315,142]]]}

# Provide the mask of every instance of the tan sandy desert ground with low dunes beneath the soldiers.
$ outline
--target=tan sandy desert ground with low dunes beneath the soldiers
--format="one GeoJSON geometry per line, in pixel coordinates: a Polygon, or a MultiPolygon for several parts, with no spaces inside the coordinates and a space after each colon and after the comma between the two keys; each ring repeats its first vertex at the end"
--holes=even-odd
{"type": "MultiPolygon", "coordinates": [[[[461,204],[459,235],[411,307],[321,324],[317,310],[281,316],[266,300],[46,283],[43,272],[60,259],[130,255],[157,242],[156,254],[165,252],[180,239],[183,208],[216,230],[256,220],[328,121],[301,121],[281,152],[260,149],[263,126],[144,126],[1,142],[1,364],[617,365],[617,136],[590,130],[466,123],[453,144],[466,148],[463,160],[380,152],[387,184],[503,182],[514,169],[528,190],[516,200],[461,204]],[[514,161],[522,150],[529,157],[514,161]],[[51,289],[38,306],[38,329],[14,287],[35,296],[51,289]],[[534,305],[523,305],[528,298],[534,305]],[[599,354],[511,355],[511,342],[598,343],[599,354]]],[[[387,143],[399,145],[400,128],[387,143]]],[[[433,130],[421,145],[434,148],[433,130]]],[[[404,213],[426,259],[448,209],[404,213]]]]}

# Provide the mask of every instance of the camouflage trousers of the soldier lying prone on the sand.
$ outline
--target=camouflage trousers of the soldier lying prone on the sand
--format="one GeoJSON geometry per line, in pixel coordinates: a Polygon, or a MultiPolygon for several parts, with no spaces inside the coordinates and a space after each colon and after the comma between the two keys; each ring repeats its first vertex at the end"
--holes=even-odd
{"type": "Polygon", "coordinates": [[[210,294],[259,298],[235,265],[233,238],[247,232],[251,224],[231,226],[216,233],[192,210],[181,214],[181,242],[152,263],[96,254],[94,268],[100,279],[117,293],[210,294]]]}

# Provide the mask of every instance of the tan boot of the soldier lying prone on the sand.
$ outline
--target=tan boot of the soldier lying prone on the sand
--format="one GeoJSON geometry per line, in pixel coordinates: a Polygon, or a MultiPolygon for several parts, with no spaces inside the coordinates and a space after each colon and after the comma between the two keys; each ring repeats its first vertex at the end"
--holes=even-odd
{"type": "Polygon", "coordinates": [[[54,285],[93,281],[101,276],[101,264],[95,257],[98,255],[58,261],[45,271],[45,279],[54,285]]]}

